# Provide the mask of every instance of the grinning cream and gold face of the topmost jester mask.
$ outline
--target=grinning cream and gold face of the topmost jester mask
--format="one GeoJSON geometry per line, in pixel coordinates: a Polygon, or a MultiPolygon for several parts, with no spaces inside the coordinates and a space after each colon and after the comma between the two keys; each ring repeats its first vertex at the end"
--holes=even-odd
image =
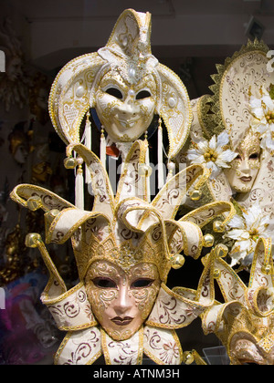
{"type": "Polygon", "coordinates": [[[150,126],[156,106],[152,75],[128,85],[116,71],[107,73],[96,93],[96,111],[114,142],[137,140],[150,126]]]}

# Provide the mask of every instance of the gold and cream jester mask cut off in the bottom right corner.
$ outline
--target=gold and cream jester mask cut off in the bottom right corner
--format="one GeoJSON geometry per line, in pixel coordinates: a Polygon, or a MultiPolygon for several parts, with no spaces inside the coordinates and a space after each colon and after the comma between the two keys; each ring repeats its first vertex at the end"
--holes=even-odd
{"type": "Polygon", "coordinates": [[[271,240],[259,239],[248,286],[216,255],[214,268],[225,303],[216,303],[202,315],[205,334],[215,333],[219,337],[231,364],[273,365],[271,240]]]}

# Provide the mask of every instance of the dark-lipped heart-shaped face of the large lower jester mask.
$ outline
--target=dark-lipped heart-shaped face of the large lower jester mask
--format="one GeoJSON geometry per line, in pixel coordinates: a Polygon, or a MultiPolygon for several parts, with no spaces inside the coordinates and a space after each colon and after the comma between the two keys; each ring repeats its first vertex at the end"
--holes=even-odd
{"type": "Polygon", "coordinates": [[[150,315],[161,280],[154,264],[137,264],[126,273],[116,264],[90,265],[86,290],[93,314],[115,340],[131,337],[150,315]]]}

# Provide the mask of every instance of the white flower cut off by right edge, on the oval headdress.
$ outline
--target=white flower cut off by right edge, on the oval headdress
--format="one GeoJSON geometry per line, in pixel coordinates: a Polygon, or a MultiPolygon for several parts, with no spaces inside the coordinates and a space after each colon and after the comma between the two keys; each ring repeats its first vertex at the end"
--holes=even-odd
{"type": "Polygon", "coordinates": [[[254,117],[250,125],[259,133],[261,148],[274,151],[274,100],[269,96],[269,92],[262,89],[261,98],[251,96],[249,107],[254,117]]]}

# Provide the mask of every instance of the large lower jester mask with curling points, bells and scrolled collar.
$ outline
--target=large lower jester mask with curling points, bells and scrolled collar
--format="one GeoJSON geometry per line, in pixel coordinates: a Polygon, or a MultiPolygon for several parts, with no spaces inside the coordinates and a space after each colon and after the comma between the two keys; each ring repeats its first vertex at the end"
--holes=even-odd
{"type": "Polygon", "coordinates": [[[171,267],[184,264],[182,252],[194,258],[201,254],[206,244],[201,227],[224,212],[231,219],[233,205],[214,202],[176,221],[187,190],[208,177],[203,166],[177,173],[149,203],[147,182],[139,173],[146,150],[142,140],[132,144],[115,198],[98,157],[81,144],[69,149],[90,169],[91,212],[37,186],[18,185],[11,194],[17,203],[45,211],[46,243],[72,242],[79,285],[67,291],[41,237],[30,233],[26,238],[27,245],[38,247],[50,273],[42,301],[58,328],[68,331],[56,363],[90,364],[103,354],[107,364],[142,364],[143,353],[157,364],[182,363],[175,329],[213,304],[208,285],[213,269],[205,267],[197,291],[172,291],[166,279],[171,267]]]}

